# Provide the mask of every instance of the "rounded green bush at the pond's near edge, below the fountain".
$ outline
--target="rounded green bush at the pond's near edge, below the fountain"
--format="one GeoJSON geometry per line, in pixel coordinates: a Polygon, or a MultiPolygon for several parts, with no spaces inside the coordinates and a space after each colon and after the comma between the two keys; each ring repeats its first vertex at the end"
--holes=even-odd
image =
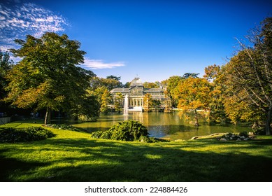
{"type": "Polygon", "coordinates": [[[91,137],[96,139],[114,139],[122,141],[148,141],[148,129],[135,120],[125,120],[110,127],[104,132],[93,132],[91,137]]]}

